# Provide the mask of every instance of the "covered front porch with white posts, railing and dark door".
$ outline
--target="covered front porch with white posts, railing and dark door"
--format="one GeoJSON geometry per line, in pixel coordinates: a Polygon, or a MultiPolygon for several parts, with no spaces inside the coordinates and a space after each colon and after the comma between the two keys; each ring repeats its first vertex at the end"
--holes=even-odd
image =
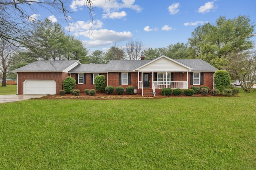
{"type": "Polygon", "coordinates": [[[138,88],[142,89],[141,94],[144,95],[144,91],[147,93],[149,90],[153,96],[156,95],[156,89],[162,88],[188,88],[188,71],[187,72],[138,72],[138,88]],[[174,81],[174,77],[176,80],[174,81]]]}

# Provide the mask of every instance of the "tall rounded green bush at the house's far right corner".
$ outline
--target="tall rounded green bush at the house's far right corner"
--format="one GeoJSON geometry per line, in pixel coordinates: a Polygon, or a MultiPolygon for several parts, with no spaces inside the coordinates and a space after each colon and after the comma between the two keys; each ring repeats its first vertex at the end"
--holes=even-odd
{"type": "Polygon", "coordinates": [[[230,88],[230,75],[226,70],[217,70],[214,74],[214,88],[222,91],[230,88]]]}

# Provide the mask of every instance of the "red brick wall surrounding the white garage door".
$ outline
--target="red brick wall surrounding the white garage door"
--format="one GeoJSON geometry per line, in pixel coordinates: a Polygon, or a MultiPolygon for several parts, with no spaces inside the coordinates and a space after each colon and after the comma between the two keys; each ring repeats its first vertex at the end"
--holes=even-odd
{"type": "Polygon", "coordinates": [[[62,82],[68,76],[65,72],[18,72],[18,94],[23,94],[23,82],[25,80],[54,80],[56,82],[56,94],[62,89],[62,82]]]}

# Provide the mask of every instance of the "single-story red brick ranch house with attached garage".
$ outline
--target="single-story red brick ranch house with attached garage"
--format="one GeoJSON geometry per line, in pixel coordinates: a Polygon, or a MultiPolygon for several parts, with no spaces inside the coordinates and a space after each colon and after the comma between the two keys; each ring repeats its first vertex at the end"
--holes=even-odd
{"type": "Polygon", "coordinates": [[[76,89],[94,89],[94,78],[106,77],[106,86],[133,86],[141,96],[159,95],[162,88],[213,88],[217,68],[201,59],[114,60],[108,64],[81,64],[79,61],[36,61],[20,67],[17,94],[58,94],[67,76],[76,79],[76,89]]]}

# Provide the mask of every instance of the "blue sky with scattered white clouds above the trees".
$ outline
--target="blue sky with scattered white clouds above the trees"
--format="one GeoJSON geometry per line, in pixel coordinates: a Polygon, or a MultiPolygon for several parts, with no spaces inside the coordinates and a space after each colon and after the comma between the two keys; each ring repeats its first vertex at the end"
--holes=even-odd
{"type": "Polygon", "coordinates": [[[84,3],[85,0],[68,0],[72,12],[69,28],[61,15],[44,10],[34,16],[60,23],[90,52],[107,51],[114,43],[125,47],[131,40],[142,41],[145,49],[187,43],[197,26],[214,24],[220,16],[232,19],[246,15],[256,22],[254,0],[94,0],[93,25],[84,3]]]}

